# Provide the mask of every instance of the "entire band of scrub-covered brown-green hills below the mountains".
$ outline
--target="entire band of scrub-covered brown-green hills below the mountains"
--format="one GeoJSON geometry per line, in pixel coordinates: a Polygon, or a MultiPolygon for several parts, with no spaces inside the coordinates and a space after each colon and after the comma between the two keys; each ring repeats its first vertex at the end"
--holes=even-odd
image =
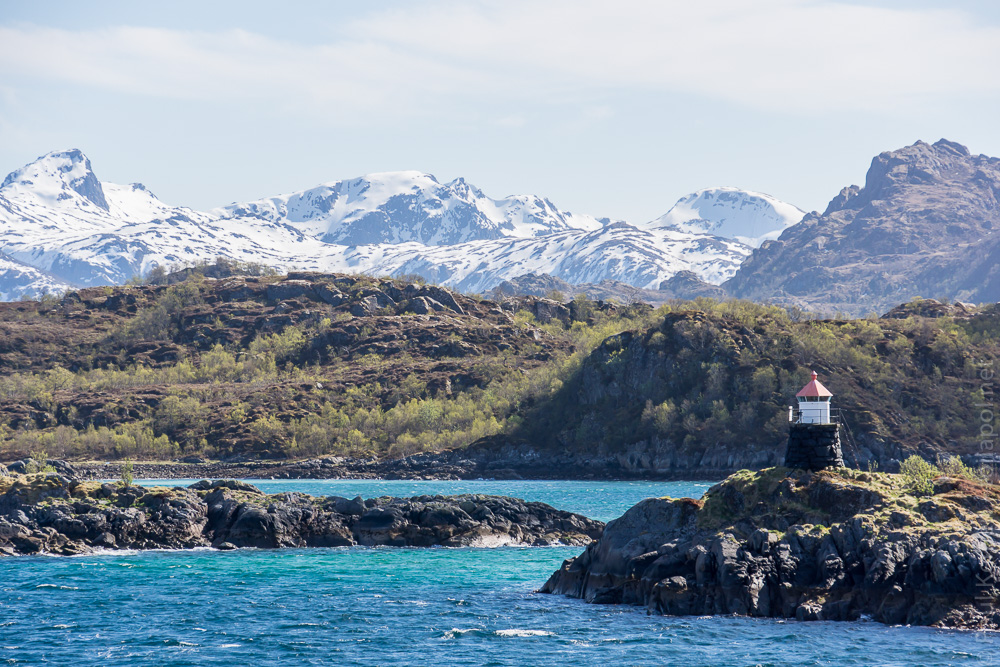
{"type": "Polygon", "coordinates": [[[891,466],[975,451],[979,372],[1000,349],[996,306],[809,320],[213,268],[0,304],[0,460],[458,450],[574,474],[715,474],[778,462],[815,369],[853,460],[891,466]]]}

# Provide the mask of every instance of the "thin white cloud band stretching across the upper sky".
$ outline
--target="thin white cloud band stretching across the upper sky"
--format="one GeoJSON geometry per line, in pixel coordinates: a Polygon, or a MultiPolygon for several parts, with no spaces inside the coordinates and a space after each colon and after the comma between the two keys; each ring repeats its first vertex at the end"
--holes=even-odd
{"type": "Polygon", "coordinates": [[[437,2],[374,12],[343,34],[299,45],[240,30],[0,27],[0,84],[291,104],[332,120],[455,112],[497,98],[604,108],[628,91],[796,113],[888,112],[1000,92],[1000,29],[951,10],[819,0],[437,2]]]}

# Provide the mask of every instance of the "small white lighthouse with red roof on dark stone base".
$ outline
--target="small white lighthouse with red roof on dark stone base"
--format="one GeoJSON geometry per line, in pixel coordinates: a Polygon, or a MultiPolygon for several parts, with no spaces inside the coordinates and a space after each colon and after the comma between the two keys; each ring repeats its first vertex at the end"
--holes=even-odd
{"type": "Polygon", "coordinates": [[[795,394],[798,409],[788,409],[788,447],[785,466],[804,470],[839,468],[844,465],[840,446],[840,425],[830,413],[833,394],[819,381],[816,371],[812,379],[795,394]]]}

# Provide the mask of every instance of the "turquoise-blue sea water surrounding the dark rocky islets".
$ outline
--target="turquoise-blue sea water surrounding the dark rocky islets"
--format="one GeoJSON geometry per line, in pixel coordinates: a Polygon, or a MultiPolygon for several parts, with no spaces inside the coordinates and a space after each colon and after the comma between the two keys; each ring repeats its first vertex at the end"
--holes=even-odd
{"type": "MultiPolygon", "coordinates": [[[[596,517],[619,514],[635,494],[698,495],[705,487],[308,480],[260,486],[364,497],[407,495],[411,488],[499,492],[567,509],[596,508],[596,517]]],[[[1000,637],[993,634],[871,622],[647,616],[638,608],[533,592],[579,552],[341,548],[4,559],[0,663],[1000,664],[1000,637]]]]}

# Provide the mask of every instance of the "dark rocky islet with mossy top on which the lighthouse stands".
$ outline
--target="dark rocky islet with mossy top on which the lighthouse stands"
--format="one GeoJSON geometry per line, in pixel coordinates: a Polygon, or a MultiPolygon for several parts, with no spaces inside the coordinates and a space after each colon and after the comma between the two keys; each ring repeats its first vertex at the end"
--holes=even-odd
{"type": "Polygon", "coordinates": [[[668,615],[1000,629],[1000,488],[847,469],[741,473],[644,500],[542,588],[668,615]]]}

